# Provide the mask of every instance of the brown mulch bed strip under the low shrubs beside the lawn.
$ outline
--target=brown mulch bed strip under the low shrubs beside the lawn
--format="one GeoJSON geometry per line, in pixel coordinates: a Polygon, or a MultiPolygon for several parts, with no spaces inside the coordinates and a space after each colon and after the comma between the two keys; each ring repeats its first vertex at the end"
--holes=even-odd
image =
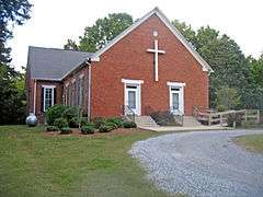
{"type": "Polygon", "coordinates": [[[130,134],[144,131],[142,129],[138,129],[138,128],[118,128],[110,132],[95,131],[95,134],[92,134],[92,135],[82,135],[80,129],[78,128],[72,128],[71,130],[72,130],[72,134],[69,134],[69,135],[60,135],[59,134],[60,131],[44,131],[43,135],[48,137],[62,137],[62,136],[106,137],[106,136],[128,136],[130,134]]]}

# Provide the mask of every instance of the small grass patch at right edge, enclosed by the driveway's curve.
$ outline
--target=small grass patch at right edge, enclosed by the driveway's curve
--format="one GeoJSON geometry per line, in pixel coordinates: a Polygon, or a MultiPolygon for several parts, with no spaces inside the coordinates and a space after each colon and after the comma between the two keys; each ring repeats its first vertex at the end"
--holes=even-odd
{"type": "Polygon", "coordinates": [[[233,141],[249,151],[263,153],[263,135],[240,136],[233,141]]]}

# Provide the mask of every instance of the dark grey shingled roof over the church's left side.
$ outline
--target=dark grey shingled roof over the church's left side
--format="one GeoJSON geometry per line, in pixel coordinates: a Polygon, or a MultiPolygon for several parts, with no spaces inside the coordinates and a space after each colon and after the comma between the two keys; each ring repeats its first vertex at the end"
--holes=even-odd
{"type": "Polygon", "coordinates": [[[30,46],[27,67],[31,69],[31,78],[60,80],[92,55],[92,53],[30,46]]]}

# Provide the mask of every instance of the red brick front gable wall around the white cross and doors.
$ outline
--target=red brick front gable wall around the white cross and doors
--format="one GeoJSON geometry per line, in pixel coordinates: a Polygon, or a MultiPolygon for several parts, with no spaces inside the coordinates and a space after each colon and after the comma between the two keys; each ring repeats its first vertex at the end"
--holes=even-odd
{"type": "Polygon", "coordinates": [[[202,66],[157,16],[151,16],[135,31],[92,62],[92,116],[118,116],[123,113],[124,84],[122,79],[144,80],[141,113],[169,109],[168,81],[184,82],[184,112],[192,114],[194,105],[208,106],[208,76],[202,66]],[[158,36],[152,35],[158,31],[158,36]],[[159,81],[156,82],[153,54],[147,53],[158,39],[159,81]]]}

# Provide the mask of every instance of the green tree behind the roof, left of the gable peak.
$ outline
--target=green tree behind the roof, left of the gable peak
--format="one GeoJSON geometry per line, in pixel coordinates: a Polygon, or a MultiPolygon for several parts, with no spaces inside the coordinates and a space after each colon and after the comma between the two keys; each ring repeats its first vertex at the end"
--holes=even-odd
{"type": "Polygon", "coordinates": [[[127,13],[108,14],[107,18],[99,19],[94,25],[84,28],[84,35],[80,36],[79,46],[68,39],[65,48],[96,51],[132,24],[133,18],[127,13]]]}

